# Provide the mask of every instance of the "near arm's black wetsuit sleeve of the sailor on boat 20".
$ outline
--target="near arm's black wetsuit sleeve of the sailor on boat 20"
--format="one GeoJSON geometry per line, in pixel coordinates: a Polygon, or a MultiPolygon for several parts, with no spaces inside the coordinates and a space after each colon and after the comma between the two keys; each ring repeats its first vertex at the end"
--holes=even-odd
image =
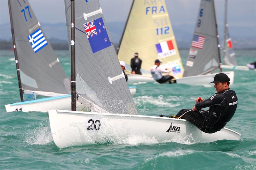
{"type": "Polygon", "coordinates": [[[225,95],[223,93],[215,93],[209,99],[204,100],[200,103],[197,103],[195,106],[196,106],[196,109],[198,110],[198,109],[202,109],[205,107],[220,105],[224,99],[225,99],[225,95]]]}

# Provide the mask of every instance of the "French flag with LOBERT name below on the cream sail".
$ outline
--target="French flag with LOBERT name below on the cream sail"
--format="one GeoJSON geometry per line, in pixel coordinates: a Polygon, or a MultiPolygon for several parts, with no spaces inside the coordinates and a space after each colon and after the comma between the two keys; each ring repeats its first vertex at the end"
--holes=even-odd
{"type": "Polygon", "coordinates": [[[156,44],[156,51],[159,58],[164,58],[176,54],[172,40],[163,41],[156,44]]]}

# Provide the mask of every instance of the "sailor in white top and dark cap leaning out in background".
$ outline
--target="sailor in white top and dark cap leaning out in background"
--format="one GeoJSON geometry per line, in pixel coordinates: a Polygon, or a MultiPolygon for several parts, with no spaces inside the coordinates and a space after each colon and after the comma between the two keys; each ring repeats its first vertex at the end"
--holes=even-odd
{"type": "Polygon", "coordinates": [[[172,70],[168,70],[167,68],[164,69],[162,67],[159,67],[160,64],[162,62],[158,59],[156,59],[155,61],[155,65],[152,66],[150,68],[150,71],[151,71],[151,74],[152,74],[152,77],[160,84],[162,83],[166,83],[166,82],[169,82],[169,84],[171,83],[176,83],[176,80],[173,76],[170,76],[170,75],[166,75],[166,76],[163,76],[162,73],[169,73],[171,72],[172,70]]]}

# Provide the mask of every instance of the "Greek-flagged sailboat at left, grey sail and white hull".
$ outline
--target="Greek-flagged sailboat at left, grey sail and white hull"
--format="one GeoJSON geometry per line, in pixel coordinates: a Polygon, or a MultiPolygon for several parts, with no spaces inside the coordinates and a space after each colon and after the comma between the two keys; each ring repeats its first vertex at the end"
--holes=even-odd
{"type": "Polygon", "coordinates": [[[69,79],[60,65],[27,0],[8,1],[21,102],[5,105],[6,111],[42,111],[61,106],[70,98],[69,79]],[[15,35],[15,36],[14,36],[15,35]],[[23,101],[25,94],[51,96],[23,101]]]}

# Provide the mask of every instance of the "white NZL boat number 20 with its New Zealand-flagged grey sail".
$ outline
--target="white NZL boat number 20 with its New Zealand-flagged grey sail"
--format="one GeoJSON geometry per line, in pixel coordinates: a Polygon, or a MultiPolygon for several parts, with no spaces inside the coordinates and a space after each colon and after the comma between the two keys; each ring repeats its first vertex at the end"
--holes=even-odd
{"type": "Polygon", "coordinates": [[[196,142],[240,138],[239,133],[227,128],[206,134],[183,119],[137,115],[99,1],[65,0],[65,11],[71,54],[76,51],[73,85],[77,85],[78,100],[92,112],[49,110],[53,141],[59,148],[138,135],[158,142],[171,141],[177,135],[192,135],[196,142]]]}

